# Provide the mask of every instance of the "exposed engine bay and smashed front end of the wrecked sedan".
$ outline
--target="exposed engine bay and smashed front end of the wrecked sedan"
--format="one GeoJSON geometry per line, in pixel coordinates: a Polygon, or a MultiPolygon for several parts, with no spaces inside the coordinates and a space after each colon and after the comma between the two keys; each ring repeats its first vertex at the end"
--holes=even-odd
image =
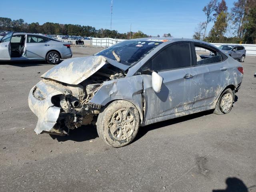
{"type": "MultiPolygon", "coordinates": [[[[124,78],[125,76],[126,73],[124,70],[106,64],[92,76],[77,85],[44,78],[42,80],[44,84],[58,90],[62,94],[57,94],[50,98],[51,103],[55,107],[60,108],[60,114],[50,132],[43,132],[64,135],[68,134],[70,129],[77,128],[81,125],[95,125],[97,115],[100,113],[102,106],[92,104],[90,100],[102,87],[103,82],[124,78]]],[[[37,87],[33,90],[33,96],[37,100],[44,100],[46,98],[37,87]]]]}

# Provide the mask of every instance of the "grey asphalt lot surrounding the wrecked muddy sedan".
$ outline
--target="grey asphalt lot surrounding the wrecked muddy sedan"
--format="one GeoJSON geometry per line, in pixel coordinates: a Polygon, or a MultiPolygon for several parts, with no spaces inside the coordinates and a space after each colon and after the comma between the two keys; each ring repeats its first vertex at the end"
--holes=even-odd
{"type": "MultiPolygon", "coordinates": [[[[72,50],[80,57],[101,49],[72,50]]],[[[244,80],[229,114],[152,124],[132,144],[111,148],[92,126],[66,137],[34,134],[28,93],[53,66],[0,63],[0,191],[256,192],[256,57],[242,64],[244,80]]]]}

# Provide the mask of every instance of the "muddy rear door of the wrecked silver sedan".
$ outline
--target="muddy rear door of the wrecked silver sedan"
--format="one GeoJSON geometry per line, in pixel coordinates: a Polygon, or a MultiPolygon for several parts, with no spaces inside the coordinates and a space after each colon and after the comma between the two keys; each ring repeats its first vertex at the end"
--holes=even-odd
{"type": "Polygon", "coordinates": [[[226,63],[226,58],[222,56],[219,50],[205,44],[194,43],[194,53],[200,56],[199,48],[205,52],[212,52],[214,55],[210,58],[199,58],[194,60],[196,82],[196,93],[194,108],[204,107],[212,104],[226,87],[230,72],[226,63]]]}

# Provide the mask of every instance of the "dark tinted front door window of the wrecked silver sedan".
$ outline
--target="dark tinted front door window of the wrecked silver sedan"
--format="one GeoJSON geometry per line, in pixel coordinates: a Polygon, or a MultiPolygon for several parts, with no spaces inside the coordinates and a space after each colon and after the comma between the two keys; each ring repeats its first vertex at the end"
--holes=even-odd
{"type": "Polygon", "coordinates": [[[152,70],[162,71],[191,66],[189,43],[173,44],[152,59],[152,70]]]}

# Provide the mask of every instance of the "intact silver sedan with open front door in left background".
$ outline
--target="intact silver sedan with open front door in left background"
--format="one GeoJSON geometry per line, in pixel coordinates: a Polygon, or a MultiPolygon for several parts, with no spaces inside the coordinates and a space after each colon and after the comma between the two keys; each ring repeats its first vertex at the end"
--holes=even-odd
{"type": "Polygon", "coordinates": [[[9,32],[0,40],[0,60],[46,60],[58,64],[72,57],[70,44],[44,35],[9,32]]]}

